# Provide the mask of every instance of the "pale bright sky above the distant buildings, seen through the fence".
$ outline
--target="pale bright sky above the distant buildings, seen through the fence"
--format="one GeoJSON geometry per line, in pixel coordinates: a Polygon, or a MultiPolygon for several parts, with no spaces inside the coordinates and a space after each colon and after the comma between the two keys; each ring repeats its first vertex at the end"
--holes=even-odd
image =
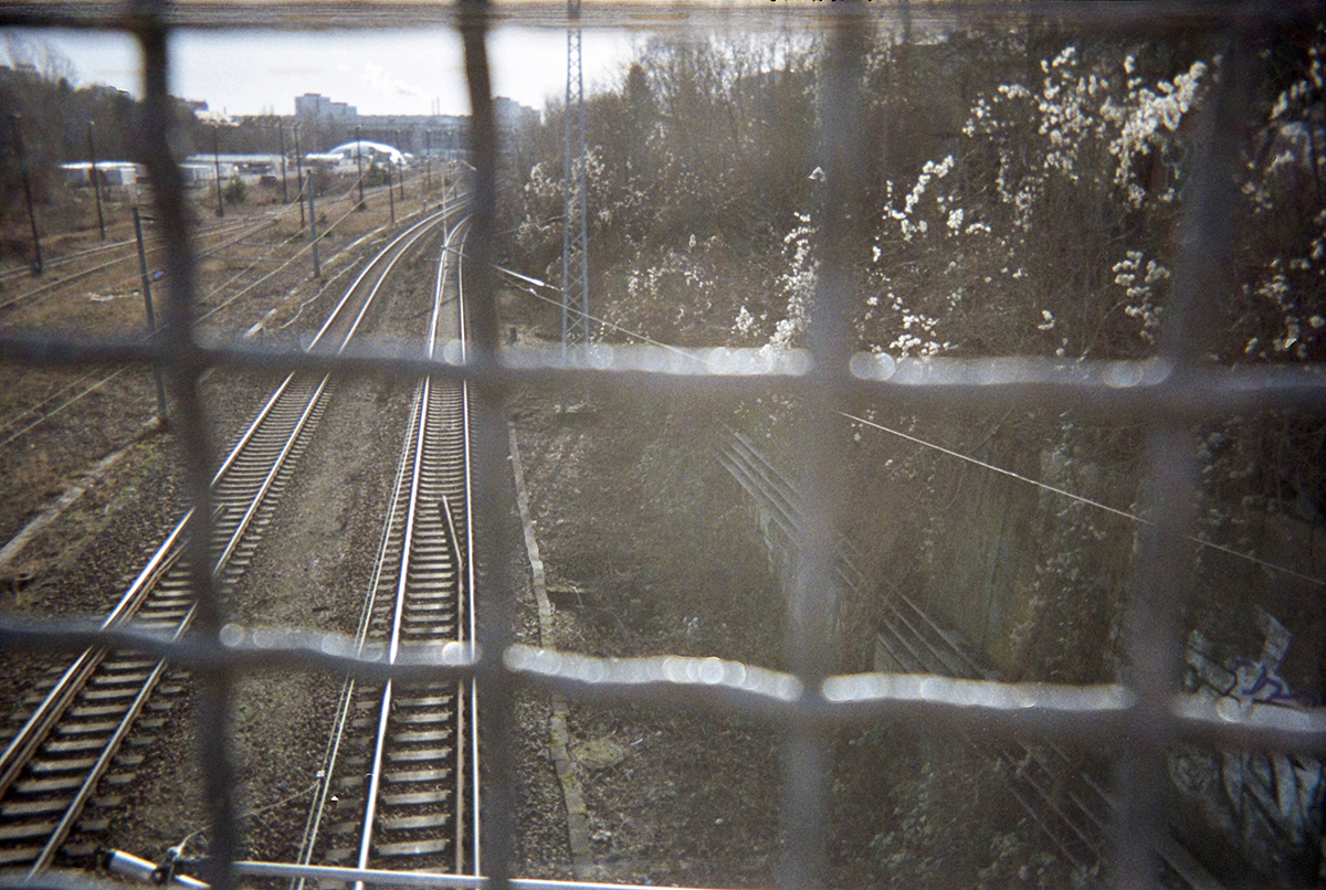
{"type": "MultiPolygon", "coordinates": [[[[119,33],[11,32],[37,60],[49,46],[68,60],[80,86],[106,83],[141,93],[137,44],[119,33]]],[[[617,75],[642,36],[583,34],[585,86],[617,75]]],[[[171,93],[232,115],[293,114],[294,97],[321,93],[361,114],[469,114],[460,38],[450,29],[375,32],[175,32],[171,93]]],[[[0,62],[7,62],[0,48],[0,62]]],[[[12,52],[12,48],[11,48],[12,52]]],[[[566,33],[556,28],[496,29],[489,36],[493,93],[533,109],[566,91],[566,33]]],[[[40,61],[38,61],[40,64],[40,61]]]]}

